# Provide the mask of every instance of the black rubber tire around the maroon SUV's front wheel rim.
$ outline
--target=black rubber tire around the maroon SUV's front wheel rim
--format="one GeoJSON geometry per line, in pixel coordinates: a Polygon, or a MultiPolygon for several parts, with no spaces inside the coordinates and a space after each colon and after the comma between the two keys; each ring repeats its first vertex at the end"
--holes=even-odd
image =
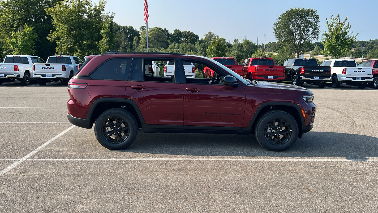
{"type": "Polygon", "coordinates": [[[257,122],[256,129],[255,129],[255,136],[257,141],[260,143],[261,146],[263,146],[265,149],[271,150],[271,151],[284,151],[289,149],[293,144],[296,142],[299,135],[299,128],[298,124],[295,121],[294,117],[290,114],[284,112],[284,111],[276,111],[274,113],[267,112],[264,114],[259,121],[257,122]],[[291,129],[293,132],[291,133],[290,140],[287,141],[285,144],[282,145],[273,145],[269,143],[265,138],[265,127],[266,125],[272,121],[273,119],[283,119],[287,122],[289,122],[291,129]]]}

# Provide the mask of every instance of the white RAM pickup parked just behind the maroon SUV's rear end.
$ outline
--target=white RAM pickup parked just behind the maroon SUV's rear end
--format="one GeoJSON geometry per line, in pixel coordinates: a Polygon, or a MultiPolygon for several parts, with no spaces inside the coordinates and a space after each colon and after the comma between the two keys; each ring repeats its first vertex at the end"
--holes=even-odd
{"type": "Polygon", "coordinates": [[[34,64],[33,77],[39,85],[46,85],[48,80],[68,82],[81,63],[81,59],[73,55],[51,55],[46,63],[34,64]]]}

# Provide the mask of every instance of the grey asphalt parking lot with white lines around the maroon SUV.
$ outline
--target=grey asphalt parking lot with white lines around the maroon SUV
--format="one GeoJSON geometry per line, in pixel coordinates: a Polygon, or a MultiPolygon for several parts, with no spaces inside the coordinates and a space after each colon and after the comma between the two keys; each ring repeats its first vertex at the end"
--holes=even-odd
{"type": "Polygon", "coordinates": [[[287,151],[142,130],[114,151],[68,122],[66,84],[3,83],[0,212],[377,212],[378,89],[303,86],[314,128],[287,151]]]}

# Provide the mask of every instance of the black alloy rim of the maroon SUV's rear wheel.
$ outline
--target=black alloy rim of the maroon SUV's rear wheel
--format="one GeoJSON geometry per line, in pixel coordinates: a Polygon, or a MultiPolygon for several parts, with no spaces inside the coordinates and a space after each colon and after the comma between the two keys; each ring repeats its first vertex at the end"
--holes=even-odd
{"type": "Polygon", "coordinates": [[[110,117],[102,123],[102,136],[106,141],[117,144],[129,137],[130,127],[122,117],[110,117]]]}

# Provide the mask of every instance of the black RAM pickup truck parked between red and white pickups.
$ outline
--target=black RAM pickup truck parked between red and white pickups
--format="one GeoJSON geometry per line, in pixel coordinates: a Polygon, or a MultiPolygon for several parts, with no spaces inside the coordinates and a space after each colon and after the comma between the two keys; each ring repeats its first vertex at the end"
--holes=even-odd
{"type": "Polygon", "coordinates": [[[331,80],[331,67],[320,67],[315,59],[292,58],[285,63],[285,81],[292,81],[293,85],[315,83],[324,88],[331,80]]]}

